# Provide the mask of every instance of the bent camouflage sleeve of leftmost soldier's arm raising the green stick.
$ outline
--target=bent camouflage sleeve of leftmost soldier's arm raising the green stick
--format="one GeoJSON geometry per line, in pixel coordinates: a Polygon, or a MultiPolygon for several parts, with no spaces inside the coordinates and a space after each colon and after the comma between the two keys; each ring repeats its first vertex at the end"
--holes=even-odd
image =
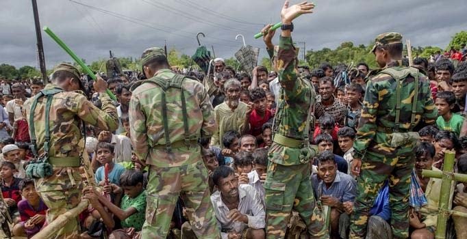
{"type": "Polygon", "coordinates": [[[118,115],[112,99],[107,94],[102,94],[101,97],[102,107],[97,108],[86,100],[86,97],[79,95],[75,98],[76,103],[73,104],[76,108],[78,117],[88,124],[92,124],[101,130],[114,131],[118,128],[118,115]]]}

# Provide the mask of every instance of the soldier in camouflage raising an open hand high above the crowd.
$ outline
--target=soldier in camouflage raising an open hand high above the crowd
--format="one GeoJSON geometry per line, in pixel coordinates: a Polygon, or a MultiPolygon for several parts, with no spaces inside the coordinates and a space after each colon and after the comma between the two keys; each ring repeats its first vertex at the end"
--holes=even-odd
{"type": "MultiPolygon", "coordinates": [[[[313,3],[283,6],[283,26],[290,27],[299,14],[310,13],[313,3]]],[[[290,29],[282,29],[277,53],[281,96],[275,119],[275,135],[269,150],[264,188],[266,191],[266,233],[268,238],[284,238],[292,208],[299,212],[311,238],[329,238],[325,218],[314,201],[310,180],[310,159],[316,150],[310,147],[310,109],[316,95],[311,83],[301,79],[296,69],[296,49],[290,29]]]]}

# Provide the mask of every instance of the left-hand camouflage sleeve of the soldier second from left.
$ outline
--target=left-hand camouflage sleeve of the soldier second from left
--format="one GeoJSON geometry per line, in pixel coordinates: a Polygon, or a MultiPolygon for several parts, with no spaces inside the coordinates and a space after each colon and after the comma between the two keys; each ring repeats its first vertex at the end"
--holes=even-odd
{"type": "Polygon", "coordinates": [[[144,162],[149,152],[147,141],[146,115],[142,112],[140,99],[136,94],[131,96],[128,107],[129,132],[134,152],[144,162]]]}

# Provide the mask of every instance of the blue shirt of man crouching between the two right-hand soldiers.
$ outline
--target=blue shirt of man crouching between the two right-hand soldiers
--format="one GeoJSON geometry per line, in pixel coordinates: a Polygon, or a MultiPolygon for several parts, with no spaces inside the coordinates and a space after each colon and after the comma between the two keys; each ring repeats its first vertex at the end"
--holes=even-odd
{"type": "Polygon", "coordinates": [[[325,182],[318,178],[318,174],[311,176],[313,191],[318,200],[322,195],[336,197],[340,202],[355,201],[357,182],[351,175],[337,171],[336,178],[331,186],[327,188],[325,182]]]}

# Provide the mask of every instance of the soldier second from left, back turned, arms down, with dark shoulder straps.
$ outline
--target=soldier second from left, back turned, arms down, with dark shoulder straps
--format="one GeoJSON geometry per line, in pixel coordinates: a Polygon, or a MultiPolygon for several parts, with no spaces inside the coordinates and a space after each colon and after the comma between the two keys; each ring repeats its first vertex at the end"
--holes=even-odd
{"type": "Polygon", "coordinates": [[[197,143],[216,129],[209,96],[198,81],[171,72],[162,48],[144,51],[142,65],[149,80],[132,87],[129,103],[134,150],[149,165],[142,238],[166,237],[179,195],[194,234],[220,238],[197,143]]]}

